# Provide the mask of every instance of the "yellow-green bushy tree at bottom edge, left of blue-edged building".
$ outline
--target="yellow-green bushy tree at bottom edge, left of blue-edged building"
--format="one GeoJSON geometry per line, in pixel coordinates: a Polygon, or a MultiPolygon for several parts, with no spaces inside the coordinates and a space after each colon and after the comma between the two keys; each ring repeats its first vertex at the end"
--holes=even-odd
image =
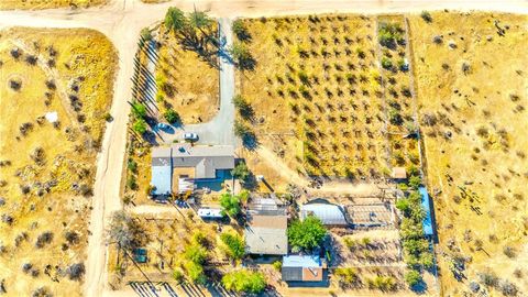
{"type": "Polygon", "coordinates": [[[266,287],[266,280],[261,272],[240,270],[226,274],[222,277],[222,285],[226,289],[237,293],[258,294],[266,287]]]}

